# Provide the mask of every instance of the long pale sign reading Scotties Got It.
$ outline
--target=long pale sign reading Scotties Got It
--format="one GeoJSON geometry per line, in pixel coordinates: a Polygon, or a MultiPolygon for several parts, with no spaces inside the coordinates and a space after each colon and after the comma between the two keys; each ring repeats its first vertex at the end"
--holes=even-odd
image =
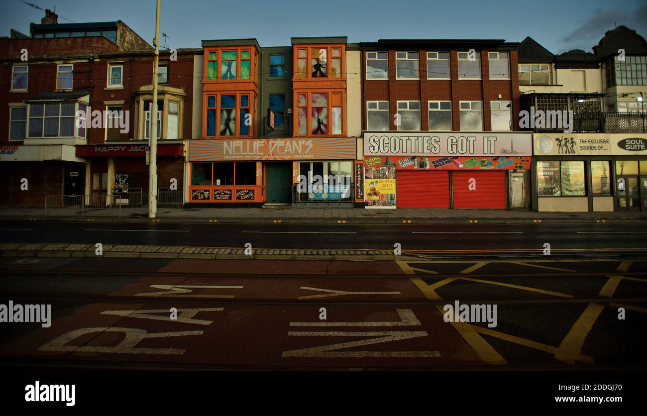
{"type": "Polygon", "coordinates": [[[364,156],[530,156],[530,133],[364,133],[364,156]]]}

